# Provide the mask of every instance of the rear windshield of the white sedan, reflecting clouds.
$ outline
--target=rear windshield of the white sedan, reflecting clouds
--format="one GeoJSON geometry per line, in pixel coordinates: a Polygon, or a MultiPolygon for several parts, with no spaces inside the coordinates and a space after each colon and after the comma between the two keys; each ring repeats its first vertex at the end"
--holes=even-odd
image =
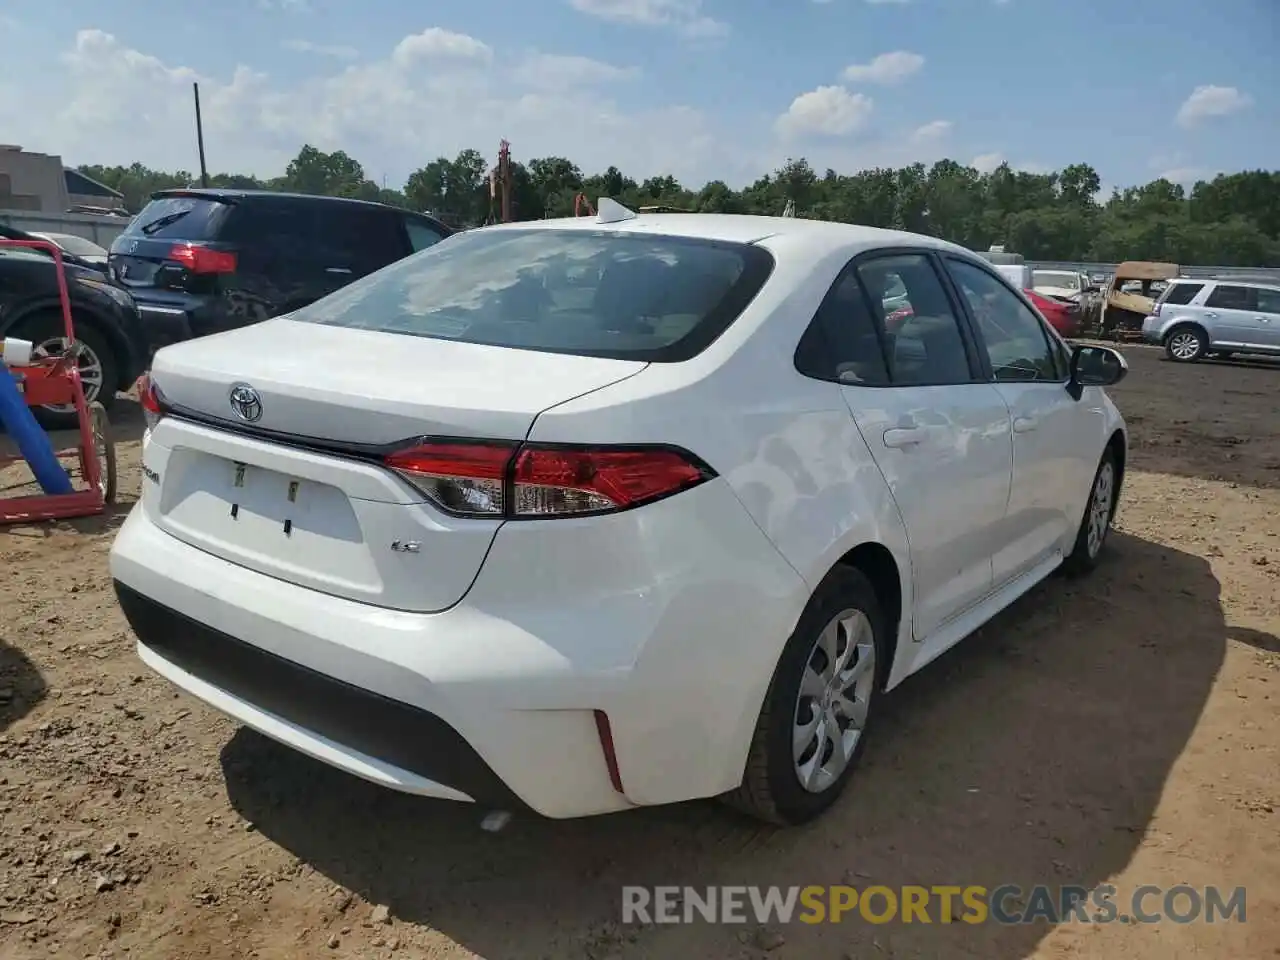
{"type": "Polygon", "coordinates": [[[742,243],[479,229],[292,316],[552,353],[680,361],[719,337],[772,269],[768,251],[742,243]]]}

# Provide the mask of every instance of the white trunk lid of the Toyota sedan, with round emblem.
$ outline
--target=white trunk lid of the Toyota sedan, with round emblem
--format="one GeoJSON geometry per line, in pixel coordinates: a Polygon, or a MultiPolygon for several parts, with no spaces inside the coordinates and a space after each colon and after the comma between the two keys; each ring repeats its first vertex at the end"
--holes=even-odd
{"type": "Polygon", "coordinates": [[[422,436],[520,442],[541,411],[645,366],[283,317],[189,340],[152,367],[169,415],[146,456],[159,492],[145,509],[179,540],[261,573],[444,609],[470,589],[500,513],[440,509],[424,475],[404,479],[387,454],[422,436]],[[253,392],[237,397],[239,413],[237,385],[253,392]]]}

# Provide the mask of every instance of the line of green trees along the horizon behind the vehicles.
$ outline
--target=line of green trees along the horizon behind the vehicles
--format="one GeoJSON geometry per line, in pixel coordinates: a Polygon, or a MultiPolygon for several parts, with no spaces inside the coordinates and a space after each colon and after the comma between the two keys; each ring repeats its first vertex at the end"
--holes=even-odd
{"type": "MultiPolygon", "coordinates": [[[[296,191],[376,200],[431,212],[453,225],[494,216],[490,164],[476,150],[439,157],[410,174],[399,189],[371,180],[342,150],[303,146],[283,177],[259,179],[219,173],[210,186],[296,191]]],[[[1162,260],[1220,266],[1280,265],[1280,170],[1219,174],[1185,189],[1167,179],[1117,189],[1100,198],[1097,170],[1071,164],[1028,173],[1001,164],[989,173],[954,160],[854,174],[819,174],[806,160],[788,160],[755,183],[733,189],[712,180],[691,189],[673,177],[636,180],[617,166],[585,175],[558,156],[512,161],[512,211],[517,220],[571,216],[579,193],[594,204],[607,196],[635,209],[669,206],[700,212],[772,214],[795,204],[797,216],[842,220],[925,233],[970,250],[1004,244],[1028,260],[1162,260]]],[[[137,212],[157,189],[198,182],[187,170],[86,165],[79,170],[120,191],[137,212]]]]}

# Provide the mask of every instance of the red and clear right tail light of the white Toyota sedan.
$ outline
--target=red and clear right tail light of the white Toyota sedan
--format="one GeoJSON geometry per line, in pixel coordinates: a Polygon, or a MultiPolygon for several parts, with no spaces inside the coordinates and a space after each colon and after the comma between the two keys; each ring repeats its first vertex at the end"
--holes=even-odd
{"type": "Polygon", "coordinates": [[[664,445],[424,440],[384,463],[448,513],[507,520],[616,513],[716,476],[694,454],[664,445]]]}

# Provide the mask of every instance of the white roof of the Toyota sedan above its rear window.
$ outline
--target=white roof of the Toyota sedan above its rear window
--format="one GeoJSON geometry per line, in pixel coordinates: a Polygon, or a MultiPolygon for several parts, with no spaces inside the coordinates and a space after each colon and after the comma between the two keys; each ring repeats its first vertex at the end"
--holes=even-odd
{"type": "Polygon", "coordinates": [[[972,250],[937,237],[927,237],[904,230],[879,227],[837,223],[833,220],[806,220],[797,216],[754,216],[749,214],[636,214],[627,220],[602,223],[595,216],[570,216],[556,220],[526,220],[494,224],[484,230],[613,230],[618,233],[648,233],[664,237],[726,241],[731,243],[763,243],[773,247],[786,241],[788,247],[813,246],[831,250],[844,247],[850,253],[881,247],[929,247],[947,252],[966,253],[972,250]]]}

